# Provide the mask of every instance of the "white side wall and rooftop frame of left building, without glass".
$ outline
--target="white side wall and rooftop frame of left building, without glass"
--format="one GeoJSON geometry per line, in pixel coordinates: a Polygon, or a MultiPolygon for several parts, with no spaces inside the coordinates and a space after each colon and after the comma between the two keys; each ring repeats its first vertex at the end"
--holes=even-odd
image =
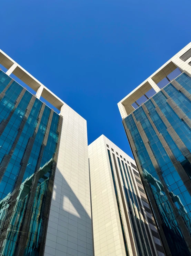
{"type": "MultiPolygon", "coordinates": [[[[57,166],[53,177],[53,190],[50,191],[50,209],[47,208],[48,214],[50,211],[48,227],[43,229],[45,240],[41,240],[39,255],[93,256],[87,122],[1,50],[0,64],[7,69],[6,74],[2,73],[5,79],[2,80],[2,86],[4,81],[14,74],[36,91],[36,97],[32,96],[34,99],[40,99],[42,96],[60,111],[59,115],[63,118],[63,122],[59,123],[59,149],[55,153],[57,156],[54,156],[57,158],[57,166]]],[[[56,116],[55,112],[51,113],[56,116]]],[[[3,204],[1,206],[3,207],[3,204]]],[[[34,251],[33,248],[33,253],[34,251]]],[[[24,252],[22,255],[25,255],[24,252]]]]}

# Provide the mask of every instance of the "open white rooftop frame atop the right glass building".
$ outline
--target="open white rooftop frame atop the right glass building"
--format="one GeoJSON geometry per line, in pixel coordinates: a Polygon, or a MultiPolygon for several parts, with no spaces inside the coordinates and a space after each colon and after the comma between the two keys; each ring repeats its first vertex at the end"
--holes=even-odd
{"type": "Polygon", "coordinates": [[[118,103],[122,119],[184,70],[191,73],[191,42],[118,103]]]}

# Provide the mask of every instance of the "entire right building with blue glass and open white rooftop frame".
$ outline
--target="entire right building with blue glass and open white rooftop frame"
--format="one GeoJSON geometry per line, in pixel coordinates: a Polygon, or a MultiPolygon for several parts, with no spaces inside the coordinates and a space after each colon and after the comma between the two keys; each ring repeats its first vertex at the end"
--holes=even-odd
{"type": "Polygon", "coordinates": [[[191,43],[118,106],[165,253],[191,255],[191,43]]]}

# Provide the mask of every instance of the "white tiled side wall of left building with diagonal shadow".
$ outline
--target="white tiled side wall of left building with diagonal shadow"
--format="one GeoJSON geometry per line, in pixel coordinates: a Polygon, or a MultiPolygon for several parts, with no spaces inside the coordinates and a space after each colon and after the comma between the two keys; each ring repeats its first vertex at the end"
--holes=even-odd
{"type": "Polygon", "coordinates": [[[87,124],[67,104],[44,256],[93,256],[87,124]]]}

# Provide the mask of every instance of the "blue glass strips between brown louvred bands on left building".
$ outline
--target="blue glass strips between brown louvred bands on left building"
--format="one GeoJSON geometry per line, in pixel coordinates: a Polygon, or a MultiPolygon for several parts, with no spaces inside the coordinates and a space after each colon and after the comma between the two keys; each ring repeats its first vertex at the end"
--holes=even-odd
{"type": "MultiPolygon", "coordinates": [[[[8,85],[11,78],[0,71],[0,92],[8,85]]],[[[31,136],[34,136],[34,142],[32,148],[29,151],[30,156],[26,164],[26,168],[23,173],[22,182],[19,188],[19,193],[17,194],[17,200],[14,202],[14,212],[12,212],[11,220],[8,227],[8,232],[6,235],[6,240],[4,240],[2,255],[12,256],[14,248],[18,239],[19,230],[21,228],[22,217],[24,210],[26,209],[27,198],[29,195],[30,187],[32,185],[32,180],[34,177],[34,172],[37,167],[37,162],[39,154],[41,152],[42,142],[44,134],[46,132],[50,111],[51,109],[45,106],[41,121],[39,121],[38,132],[34,133],[38,120],[39,113],[42,107],[42,102],[39,99],[35,99],[33,107],[30,111],[29,117],[21,130],[21,135],[19,136],[18,142],[13,152],[10,152],[12,145],[18,134],[18,128],[20,127],[21,121],[26,114],[26,109],[31,100],[32,94],[26,91],[16,109],[14,105],[16,100],[22,91],[22,87],[17,83],[13,82],[10,87],[5,92],[5,96],[0,101],[0,122],[6,120],[10,115],[11,111],[13,114],[8,122],[7,126],[0,136],[0,162],[5,155],[11,154],[11,159],[5,170],[4,176],[0,183],[0,225],[2,227],[3,220],[9,212],[9,200],[10,194],[14,189],[15,180],[19,175],[19,170],[21,168],[21,161],[24,156],[25,150],[28,147],[28,141],[31,136]],[[11,248],[11,250],[10,250],[11,248]]],[[[53,113],[52,122],[50,126],[50,131],[48,135],[47,145],[44,147],[42,160],[40,164],[40,169],[37,170],[39,174],[39,180],[37,184],[37,189],[34,194],[33,207],[31,211],[31,219],[29,225],[29,233],[27,234],[29,240],[28,245],[25,249],[24,255],[29,255],[37,251],[38,241],[40,239],[41,218],[43,216],[44,196],[46,195],[49,178],[52,171],[53,156],[56,151],[58,134],[57,126],[59,121],[59,115],[53,113]]],[[[0,124],[1,125],[1,124],[0,124]]],[[[1,126],[0,126],[1,127],[1,126]]],[[[34,254],[36,255],[36,254],[34,254]]]]}

